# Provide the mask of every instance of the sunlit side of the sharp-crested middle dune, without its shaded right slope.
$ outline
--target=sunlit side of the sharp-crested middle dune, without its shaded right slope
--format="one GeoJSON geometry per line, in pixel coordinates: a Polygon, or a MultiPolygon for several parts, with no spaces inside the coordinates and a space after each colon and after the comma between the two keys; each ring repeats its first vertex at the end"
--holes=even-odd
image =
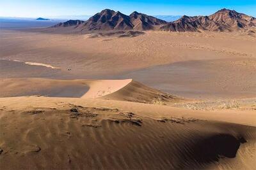
{"type": "Polygon", "coordinates": [[[85,99],[97,98],[114,93],[125,87],[131,81],[132,80],[52,80],[44,78],[10,78],[0,80],[0,97],[75,96],[85,99]],[[77,96],[78,94],[80,94],[80,96],[77,96]]]}

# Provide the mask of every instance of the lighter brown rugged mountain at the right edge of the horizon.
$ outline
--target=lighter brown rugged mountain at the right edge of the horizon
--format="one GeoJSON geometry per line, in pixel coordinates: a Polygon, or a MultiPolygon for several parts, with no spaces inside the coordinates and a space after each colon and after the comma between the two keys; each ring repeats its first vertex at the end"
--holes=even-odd
{"type": "Polygon", "coordinates": [[[209,16],[188,17],[170,22],[160,28],[163,31],[246,31],[256,26],[256,18],[234,10],[222,9],[209,16]]]}

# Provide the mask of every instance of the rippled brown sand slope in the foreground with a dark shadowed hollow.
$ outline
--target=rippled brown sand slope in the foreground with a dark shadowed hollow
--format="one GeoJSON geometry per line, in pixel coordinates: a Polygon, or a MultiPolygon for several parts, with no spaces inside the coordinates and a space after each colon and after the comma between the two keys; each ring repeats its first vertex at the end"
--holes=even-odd
{"type": "Polygon", "coordinates": [[[253,169],[254,113],[54,97],[0,109],[3,169],[253,169]]]}

